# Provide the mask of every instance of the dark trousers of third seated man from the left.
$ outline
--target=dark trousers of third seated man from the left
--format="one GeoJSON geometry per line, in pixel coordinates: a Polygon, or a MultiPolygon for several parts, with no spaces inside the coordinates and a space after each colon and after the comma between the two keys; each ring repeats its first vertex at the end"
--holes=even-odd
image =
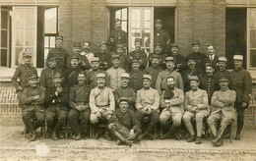
{"type": "Polygon", "coordinates": [[[86,134],[88,132],[90,114],[90,108],[87,108],[85,111],[79,111],[77,109],[70,110],[68,119],[73,134],[86,134]]]}

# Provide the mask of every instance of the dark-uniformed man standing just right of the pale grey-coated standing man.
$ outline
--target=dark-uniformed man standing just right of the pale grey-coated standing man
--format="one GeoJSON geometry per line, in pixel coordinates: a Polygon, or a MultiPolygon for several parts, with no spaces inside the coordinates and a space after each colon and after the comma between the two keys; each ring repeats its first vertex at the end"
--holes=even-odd
{"type": "Polygon", "coordinates": [[[184,82],[184,92],[191,90],[189,80],[191,76],[197,76],[198,78],[204,75],[202,69],[196,68],[196,60],[194,57],[187,57],[187,67],[188,69],[181,73],[182,80],[184,82]]]}

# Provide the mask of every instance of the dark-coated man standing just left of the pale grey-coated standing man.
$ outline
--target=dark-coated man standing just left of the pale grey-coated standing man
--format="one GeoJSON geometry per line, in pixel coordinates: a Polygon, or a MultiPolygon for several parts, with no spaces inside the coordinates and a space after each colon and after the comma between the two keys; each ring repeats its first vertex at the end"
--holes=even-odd
{"type": "Polygon", "coordinates": [[[152,66],[151,67],[147,67],[144,72],[146,74],[152,76],[152,84],[151,84],[151,86],[153,88],[156,88],[156,82],[157,82],[158,76],[159,76],[160,72],[162,71],[162,69],[159,66],[160,65],[160,56],[158,54],[154,54],[151,57],[150,62],[152,64],[152,66]]]}

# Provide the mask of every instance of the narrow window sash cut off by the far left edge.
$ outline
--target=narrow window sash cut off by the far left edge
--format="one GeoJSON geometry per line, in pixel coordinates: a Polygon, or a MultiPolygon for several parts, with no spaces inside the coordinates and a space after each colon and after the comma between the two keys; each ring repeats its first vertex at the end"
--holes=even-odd
{"type": "Polygon", "coordinates": [[[10,66],[10,11],[8,8],[1,8],[1,43],[0,43],[0,66],[10,66]]]}

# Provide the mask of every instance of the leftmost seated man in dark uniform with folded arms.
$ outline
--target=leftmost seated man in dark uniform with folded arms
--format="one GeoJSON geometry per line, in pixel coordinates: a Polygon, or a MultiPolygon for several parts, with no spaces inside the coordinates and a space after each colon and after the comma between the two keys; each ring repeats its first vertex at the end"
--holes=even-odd
{"type": "Polygon", "coordinates": [[[29,84],[30,86],[24,89],[22,96],[24,106],[22,118],[31,133],[31,141],[34,141],[36,139],[36,129],[42,126],[44,122],[45,90],[38,85],[38,77],[35,73],[29,74],[29,84]]]}

